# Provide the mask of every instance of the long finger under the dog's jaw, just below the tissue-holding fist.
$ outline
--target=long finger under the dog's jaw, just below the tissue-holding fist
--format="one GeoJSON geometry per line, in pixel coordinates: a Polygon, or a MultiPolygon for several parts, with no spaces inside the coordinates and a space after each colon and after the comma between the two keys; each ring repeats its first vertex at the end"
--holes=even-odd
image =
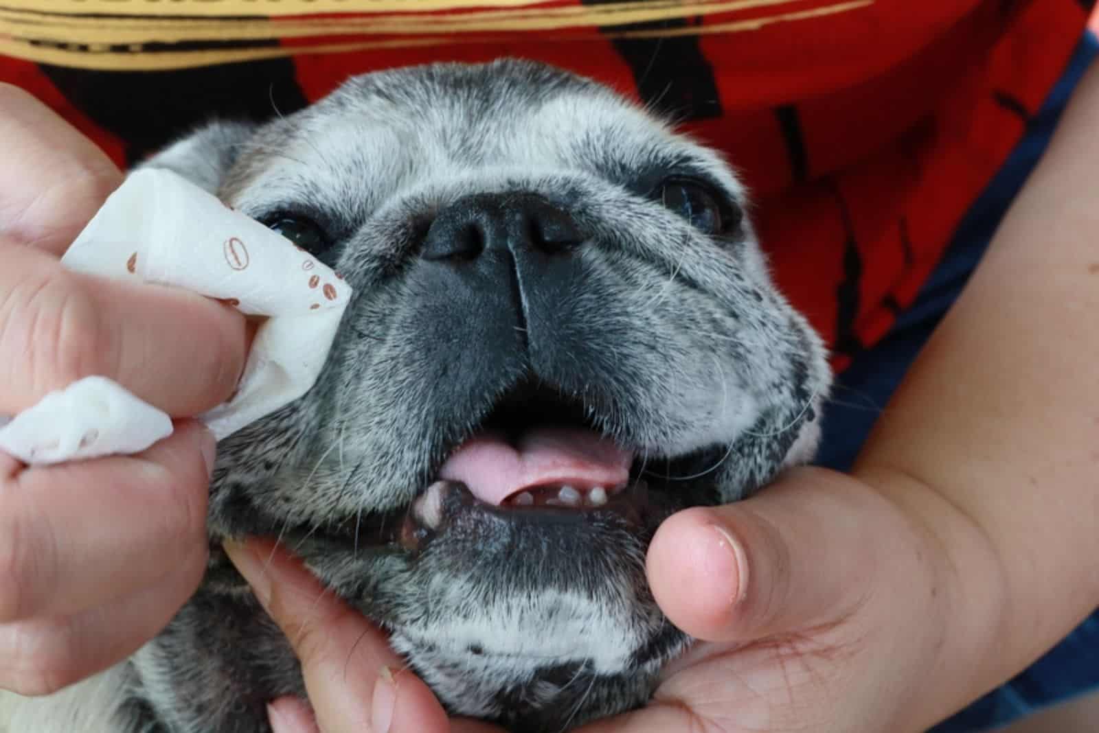
{"type": "Polygon", "coordinates": [[[448,731],[442,706],[385,635],[299,561],[260,540],[225,550],[290,641],[323,733],[448,731]]]}

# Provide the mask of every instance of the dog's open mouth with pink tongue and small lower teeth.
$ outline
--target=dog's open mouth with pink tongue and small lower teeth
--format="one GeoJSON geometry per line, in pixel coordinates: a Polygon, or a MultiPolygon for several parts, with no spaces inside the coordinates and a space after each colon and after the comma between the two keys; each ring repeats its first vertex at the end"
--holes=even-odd
{"type": "Polygon", "coordinates": [[[393,539],[421,550],[459,514],[535,528],[571,521],[644,531],[690,503],[692,487],[677,478],[708,453],[663,461],[657,474],[645,451],[622,446],[600,422],[582,399],[545,384],[510,390],[445,456],[393,539]]]}

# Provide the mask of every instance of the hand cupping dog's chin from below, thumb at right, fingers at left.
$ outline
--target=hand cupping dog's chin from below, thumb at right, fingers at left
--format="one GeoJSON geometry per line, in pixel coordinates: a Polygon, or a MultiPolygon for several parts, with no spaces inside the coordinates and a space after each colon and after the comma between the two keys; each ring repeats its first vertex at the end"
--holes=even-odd
{"type": "MultiPolygon", "coordinates": [[[[945,717],[929,680],[941,680],[961,589],[919,516],[869,484],[803,469],[752,499],[671,517],[650,583],[677,625],[709,641],[669,665],[645,709],[578,733],[907,733],[945,717]]],[[[230,553],[302,662],[312,710],[276,700],[275,733],[499,731],[447,721],[385,638],[281,550],[230,553]],[[387,699],[396,707],[381,712],[387,699]]]]}

